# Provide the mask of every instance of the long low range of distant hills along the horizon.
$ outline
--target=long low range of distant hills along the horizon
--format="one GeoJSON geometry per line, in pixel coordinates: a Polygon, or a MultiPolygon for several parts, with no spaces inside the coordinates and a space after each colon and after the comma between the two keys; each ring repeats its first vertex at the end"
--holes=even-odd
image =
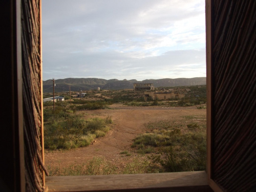
{"type": "MultiPolygon", "coordinates": [[[[177,79],[145,79],[137,81],[131,80],[118,80],[118,79],[98,79],[98,78],[66,78],[55,80],[55,92],[69,91],[82,91],[93,90],[99,87],[102,90],[121,90],[121,89],[133,89],[133,83],[153,83],[155,88],[158,87],[177,87],[177,86],[196,86],[206,84],[206,77],[195,78],[177,78],[177,79]]],[[[53,82],[51,79],[43,81],[44,93],[52,92],[53,82]]]]}

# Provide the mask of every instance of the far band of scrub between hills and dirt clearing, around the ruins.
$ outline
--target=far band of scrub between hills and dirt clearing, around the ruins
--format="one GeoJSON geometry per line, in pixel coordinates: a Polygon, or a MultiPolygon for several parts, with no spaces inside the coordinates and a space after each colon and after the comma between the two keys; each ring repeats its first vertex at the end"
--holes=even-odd
{"type": "MultiPolygon", "coordinates": [[[[72,104],[77,104],[77,110],[92,110],[108,108],[113,103],[122,103],[127,106],[194,106],[202,105],[205,108],[206,103],[206,86],[183,86],[183,87],[161,87],[155,91],[158,92],[175,92],[184,94],[184,98],[171,98],[168,100],[153,100],[151,97],[144,101],[144,91],[133,90],[115,90],[115,91],[88,91],[82,99],[72,96],[72,104]]],[[[66,99],[70,98],[69,93],[56,93],[66,99]]],[[[49,97],[50,94],[45,96],[49,97]]],[[[44,97],[45,97],[44,96],[44,97]]],[[[44,103],[44,106],[52,105],[52,102],[44,103]]],[[[200,107],[200,106],[199,106],[200,107]]],[[[200,109],[200,108],[199,108],[200,109]]]]}

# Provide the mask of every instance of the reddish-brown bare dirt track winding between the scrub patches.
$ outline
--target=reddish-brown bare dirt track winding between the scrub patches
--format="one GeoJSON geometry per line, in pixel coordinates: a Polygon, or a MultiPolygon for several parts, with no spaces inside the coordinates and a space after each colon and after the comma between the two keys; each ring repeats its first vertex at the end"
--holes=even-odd
{"type": "Polygon", "coordinates": [[[111,130],[105,137],[96,139],[87,147],[69,151],[47,151],[45,162],[48,165],[66,167],[72,164],[82,164],[93,157],[101,157],[117,167],[131,162],[136,158],[134,148],[131,147],[133,139],[146,132],[144,123],[161,120],[179,120],[183,116],[206,114],[206,110],[198,110],[196,106],[186,108],[162,108],[160,106],[138,107],[114,104],[111,109],[80,112],[85,118],[108,117],[113,120],[111,130]],[[131,152],[131,156],[120,154],[123,151],[131,152]]]}

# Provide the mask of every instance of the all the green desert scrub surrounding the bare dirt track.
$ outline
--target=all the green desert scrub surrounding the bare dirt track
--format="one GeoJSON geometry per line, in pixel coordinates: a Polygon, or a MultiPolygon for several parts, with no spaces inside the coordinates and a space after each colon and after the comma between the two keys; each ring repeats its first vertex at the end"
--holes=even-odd
{"type": "MultiPolygon", "coordinates": [[[[184,93],[182,99],[144,101],[143,91],[91,91],[84,98],[73,98],[72,103],[44,103],[45,148],[49,150],[83,147],[95,138],[105,136],[112,123],[111,117],[88,118],[78,111],[108,109],[110,104],[126,106],[193,106],[205,109],[206,86],[161,88],[184,93]],[[79,114],[79,115],[78,115],[79,114]]],[[[63,94],[65,95],[65,94],[63,94]]],[[[68,97],[67,97],[68,98],[68,97]]],[[[137,155],[121,171],[102,158],[94,158],[87,164],[73,164],[59,168],[49,166],[51,176],[106,175],[204,170],[206,163],[206,117],[183,116],[180,120],[164,120],[145,124],[147,132],[138,135],[133,150],[120,153],[123,157],[137,155]],[[139,159],[139,157],[147,159],[139,159]]],[[[134,157],[134,156],[133,156],[134,157]]]]}

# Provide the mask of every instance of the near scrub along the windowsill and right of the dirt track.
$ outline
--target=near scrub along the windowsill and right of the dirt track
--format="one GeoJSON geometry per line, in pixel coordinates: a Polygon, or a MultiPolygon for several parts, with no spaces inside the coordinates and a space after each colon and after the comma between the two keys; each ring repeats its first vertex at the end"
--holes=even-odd
{"type": "MultiPolygon", "coordinates": [[[[104,121],[112,120],[108,118],[104,121]]],[[[95,157],[87,163],[76,163],[65,168],[48,165],[49,174],[108,175],[205,170],[205,116],[183,116],[178,121],[149,122],[145,127],[147,133],[137,136],[132,144],[137,156],[133,151],[120,152],[121,157],[133,157],[133,161],[126,163],[123,169],[95,157]]]]}

